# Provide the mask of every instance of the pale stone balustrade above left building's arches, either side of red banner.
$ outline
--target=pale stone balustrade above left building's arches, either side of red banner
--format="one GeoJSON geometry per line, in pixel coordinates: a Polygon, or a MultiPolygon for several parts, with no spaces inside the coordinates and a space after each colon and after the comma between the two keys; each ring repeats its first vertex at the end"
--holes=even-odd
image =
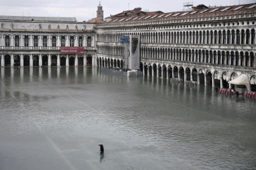
{"type": "MultiPolygon", "coordinates": [[[[60,50],[59,47],[24,47],[24,46],[0,46],[0,50],[60,50]]],[[[84,47],[84,50],[95,50],[95,47],[84,47]]]]}

